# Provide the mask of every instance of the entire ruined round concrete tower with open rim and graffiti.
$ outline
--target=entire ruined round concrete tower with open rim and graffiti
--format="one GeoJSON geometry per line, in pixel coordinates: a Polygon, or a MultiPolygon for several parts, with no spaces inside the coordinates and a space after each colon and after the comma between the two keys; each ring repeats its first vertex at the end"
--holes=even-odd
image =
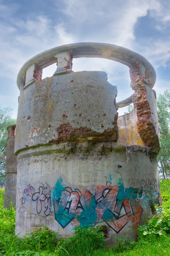
{"type": "Polygon", "coordinates": [[[17,77],[17,234],[41,220],[63,237],[79,225],[99,225],[108,246],[118,236],[136,239],[139,224],[161,204],[155,81],[144,57],[111,44],[64,45],[23,65],[17,77]],[[80,57],[127,65],[133,95],[116,103],[117,88],[105,72],[74,73],[73,58],[80,57]],[[54,75],[42,80],[42,69],[54,63],[54,75]],[[132,102],[134,110],[118,118],[118,108],[132,102]]]}

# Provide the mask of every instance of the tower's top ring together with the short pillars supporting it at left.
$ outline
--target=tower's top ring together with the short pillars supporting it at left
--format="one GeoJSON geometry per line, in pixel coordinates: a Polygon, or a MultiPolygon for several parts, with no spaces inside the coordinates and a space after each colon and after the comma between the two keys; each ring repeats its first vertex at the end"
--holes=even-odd
{"type": "MultiPolygon", "coordinates": [[[[150,62],[142,55],[114,44],[77,43],[54,47],[28,60],[18,73],[17,86],[20,89],[21,84],[26,86],[34,81],[40,81],[42,78],[42,69],[54,63],[58,65],[57,73],[71,72],[72,59],[81,57],[106,58],[120,62],[128,67],[140,63],[144,67],[144,73],[149,87],[153,88],[155,84],[155,70],[150,62]]],[[[132,103],[132,96],[118,102],[117,105],[119,108],[122,108],[130,103],[132,103]]]]}

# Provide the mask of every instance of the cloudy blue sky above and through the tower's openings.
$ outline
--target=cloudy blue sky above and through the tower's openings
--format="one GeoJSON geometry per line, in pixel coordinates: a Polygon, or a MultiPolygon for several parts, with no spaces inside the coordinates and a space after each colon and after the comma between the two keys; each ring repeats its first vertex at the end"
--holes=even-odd
{"type": "MultiPolygon", "coordinates": [[[[0,0],[0,106],[17,117],[17,74],[34,55],[63,44],[116,44],[143,55],[156,70],[157,96],[170,87],[170,0],[0,0]]],[[[52,76],[53,64],[43,70],[52,76]]],[[[129,68],[101,58],[73,60],[73,71],[100,70],[117,86],[116,101],[133,93],[129,68]]],[[[119,109],[123,114],[126,109],[119,109]]]]}

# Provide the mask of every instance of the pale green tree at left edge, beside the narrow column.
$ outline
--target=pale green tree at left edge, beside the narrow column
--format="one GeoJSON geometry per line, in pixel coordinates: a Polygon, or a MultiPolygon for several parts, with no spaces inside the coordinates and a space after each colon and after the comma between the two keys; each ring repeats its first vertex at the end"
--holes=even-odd
{"type": "Polygon", "coordinates": [[[5,164],[6,164],[6,143],[8,125],[15,124],[16,120],[11,118],[11,108],[0,107],[0,186],[5,184],[5,164]]]}

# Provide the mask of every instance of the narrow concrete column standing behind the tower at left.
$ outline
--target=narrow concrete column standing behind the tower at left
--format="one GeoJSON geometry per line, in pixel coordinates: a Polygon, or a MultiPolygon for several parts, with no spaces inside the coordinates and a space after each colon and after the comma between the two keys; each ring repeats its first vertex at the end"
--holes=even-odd
{"type": "Polygon", "coordinates": [[[6,186],[4,207],[9,207],[10,197],[12,204],[16,206],[16,189],[17,189],[17,157],[14,155],[14,143],[15,143],[15,128],[16,125],[9,125],[7,148],[6,148],[6,186]]]}

